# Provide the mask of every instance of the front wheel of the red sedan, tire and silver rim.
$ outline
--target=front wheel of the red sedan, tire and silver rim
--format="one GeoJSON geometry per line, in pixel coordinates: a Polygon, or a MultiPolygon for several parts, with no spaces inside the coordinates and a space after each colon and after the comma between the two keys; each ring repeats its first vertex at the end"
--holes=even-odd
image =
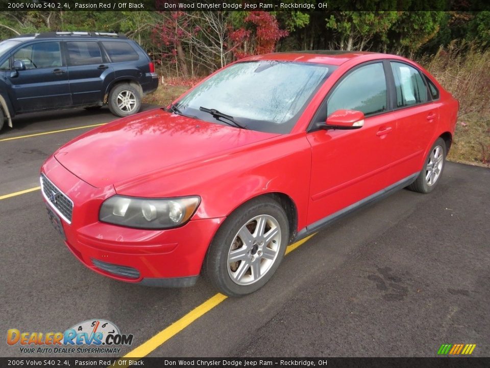
{"type": "Polygon", "coordinates": [[[204,260],[204,272],[209,281],[225,295],[253,293],[276,272],[284,257],[288,239],[288,220],[281,205],[269,197],[252,199],[233,212],[218,229],[204,260]],[[259,221],[263,223],[263,234],[257,228],[259,221]],[[244,234],[245,228],[248,234],[240,235],[244,234]],[[279,235],[273,236],[276,229],[279,235]],[[247,243],[242,237],[247,238],[248,235],[251,236],[251,242],[247,243]],[[232,251],[235,251],[235,256],[237,252],[242,253],[244,260],[230,262],[232,251]],[[240,272],[243,274],[238,277],[240,272]],[[235,279],[233,275],[236,275],[235,279]]]}

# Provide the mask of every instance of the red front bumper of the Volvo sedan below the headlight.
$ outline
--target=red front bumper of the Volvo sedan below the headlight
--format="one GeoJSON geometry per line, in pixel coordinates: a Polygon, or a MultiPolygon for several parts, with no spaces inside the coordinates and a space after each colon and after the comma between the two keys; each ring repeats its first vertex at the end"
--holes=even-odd
{"type": "MultiPolygon", "coordinates": [[[[190,220],[168,230],[128,228],[99,221],[112,186],[94,188],[51,157],[41,172],[73,203],[71,224],[61,220],[65,244],[85,266],[110,278],[149,286],[191,286],[223,219],[190,220]]],[[[45,202],[54,209],[49,199],[45,202]]]]}

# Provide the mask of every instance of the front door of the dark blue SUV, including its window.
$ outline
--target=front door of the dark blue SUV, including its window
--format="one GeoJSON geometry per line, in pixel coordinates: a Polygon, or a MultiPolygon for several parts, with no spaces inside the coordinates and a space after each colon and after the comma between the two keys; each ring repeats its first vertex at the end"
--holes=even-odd
{"type": "Polygon", "coordinates": [[[42,41],[25,45],[13,53],[26,70],[12,72],[6,79],[17,112],[71,105],[67,67],[60,42],[42,41]]]}

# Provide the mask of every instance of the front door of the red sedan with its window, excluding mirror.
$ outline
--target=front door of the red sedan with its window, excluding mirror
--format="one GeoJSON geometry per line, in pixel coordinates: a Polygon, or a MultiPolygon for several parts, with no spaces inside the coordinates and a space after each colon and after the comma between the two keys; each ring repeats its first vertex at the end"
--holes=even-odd
{"type": "MultiPolygon", "coordinates": [[[[326,106],[325,106],[326,105],[326,106]]],[[[396,121],[388,111],[388,88],[381,61],[348,72],[329,93],[325,122],[338,109],[362,111],[364,126],[354,130],[316,130],[311,145],[308,220],[314,228],[326,217],[393,184],[389,167],[396,149],[396,121]]]]}

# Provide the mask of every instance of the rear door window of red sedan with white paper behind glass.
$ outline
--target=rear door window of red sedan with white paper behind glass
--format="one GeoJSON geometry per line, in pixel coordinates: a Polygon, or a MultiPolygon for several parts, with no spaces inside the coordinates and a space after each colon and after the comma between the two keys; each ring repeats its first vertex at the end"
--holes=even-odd
{"type": "Polygon", "coordinates": [[[399,62],[390,62],[390,64],[395,77],[397,106],[411,106],[427,102],[427,87],[419,71],[399,62]]]}

